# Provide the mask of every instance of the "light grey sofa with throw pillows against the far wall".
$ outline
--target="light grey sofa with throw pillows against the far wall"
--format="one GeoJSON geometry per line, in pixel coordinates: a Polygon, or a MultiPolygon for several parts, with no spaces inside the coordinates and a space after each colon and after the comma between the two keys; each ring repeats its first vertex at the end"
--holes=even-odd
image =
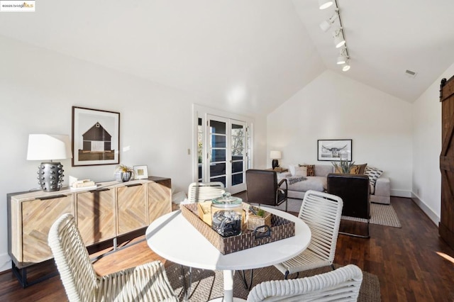
{"type": "MultiPolygon", "coordinates": [[[[292,171],[292,169],[289,169],[292,171]]],[[[333,165],[314,164],[314,177],[292,176],[291,172],[278,173],[278,179],[287,178],[288,197],[303,199],[308,190],[326,191],[326,177],[334,172],[333,165]]],[[[375,181],[375,186],[370,186],[370,201],[373,203],[389,204],[391,201],[391,187],[387,177],[379,177],[375,181]]]]}

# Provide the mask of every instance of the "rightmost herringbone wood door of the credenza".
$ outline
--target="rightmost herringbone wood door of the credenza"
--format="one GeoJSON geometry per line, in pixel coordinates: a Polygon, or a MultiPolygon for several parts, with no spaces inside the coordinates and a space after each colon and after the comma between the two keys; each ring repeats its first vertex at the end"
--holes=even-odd
{"type": "Polygon", "coordinates": [[[170,179],[148,183],[148,224],[172,211],[172,183],[170,179]]]}

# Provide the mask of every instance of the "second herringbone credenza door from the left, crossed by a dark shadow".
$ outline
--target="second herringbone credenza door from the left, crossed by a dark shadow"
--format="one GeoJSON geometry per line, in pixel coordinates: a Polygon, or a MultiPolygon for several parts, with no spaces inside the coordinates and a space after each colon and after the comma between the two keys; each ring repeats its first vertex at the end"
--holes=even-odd
{"type": "Polygon", "coordinates": [[[85,245],[116,236],[115,190],[99,189],[76,194],[77,227],[85,245]]]}

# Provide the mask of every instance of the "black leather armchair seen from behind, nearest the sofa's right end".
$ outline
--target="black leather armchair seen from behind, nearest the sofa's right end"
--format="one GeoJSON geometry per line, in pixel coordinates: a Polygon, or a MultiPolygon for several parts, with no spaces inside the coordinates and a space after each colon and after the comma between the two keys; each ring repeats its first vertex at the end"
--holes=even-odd
{"type": "MultiPolygon", "coordinates": [[[[367,235],[343,233],[357,237],[370,237],[370,185],[369,177],[363,174],[328,174],[328,193],[343,200],[342,215],[367,220],[367,235]]],[[[339,232],[341,233],[341,232],[339,232]]]]}

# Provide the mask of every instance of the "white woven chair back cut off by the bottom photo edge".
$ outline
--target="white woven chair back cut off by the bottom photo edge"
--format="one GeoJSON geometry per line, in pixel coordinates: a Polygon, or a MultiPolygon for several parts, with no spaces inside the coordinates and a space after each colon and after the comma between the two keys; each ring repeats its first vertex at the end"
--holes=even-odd
{"type": "Polygon", "coordinates": [[[348,264],[315,276],[262,282],[249,292],[247,301],[357,301],[361,283],[361,269],[348,264]]]}

